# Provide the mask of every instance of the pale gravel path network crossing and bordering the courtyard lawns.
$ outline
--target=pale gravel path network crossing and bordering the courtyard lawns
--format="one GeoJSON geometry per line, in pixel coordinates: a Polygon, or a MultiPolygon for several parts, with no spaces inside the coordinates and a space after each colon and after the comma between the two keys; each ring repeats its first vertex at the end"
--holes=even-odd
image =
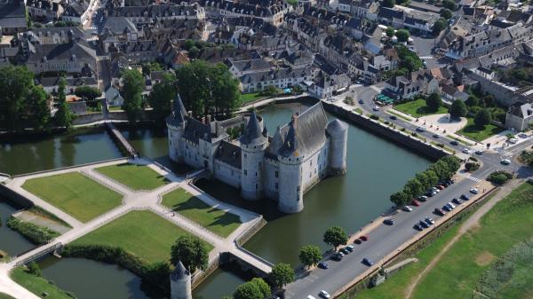
{"type": "MultiPolygon", "coordinates": [[[[212,198],[211,195],[203,193],[202,190],[196,188],[195,186],[189,185],[189,182],[195,179],[195,176],[201,176],[202,174],[203,170],[200,169],[192,174],[189,174],[187,177],[178,177],[170,170],[165,169],[162,165],[155,164],[155,162],[146,158],[136,158],[106,161],[68,169],[44,171],[28,176],[12,177],[12,179],[7,182],[6,185],[4,185],[5,188],[11,190],[13,193],[18,194],[21,197],[28,199],[28,201],[33,202],[33,204],[43,207],[44,209],[54,208],[53,213],[56,216],[59,216],[61,219],[68,219],[68,224],[70,224],[73,228],[47,244],[12,258],[12,260],[7,264],[0,264],[0,292],[15,295],[15,297],[37,298],[35,295],[29,293],[28,290],[18,286],[10,279],[9,272],[14,267],[22,264],[28,264],[31,261],[52,254],[57,250],[60,250],[60,248],[67,245],[69,242],[72,242],[73,240],[76,240],[133,210],[150,210],[158,216],[162,216],[171,221],[171,223],[178,225],[181,229],[191,232],[199,238],[209,242],[214,247],[210,253],[211,264],[219,263],[219,261],[224,262],[224,259],[220,259],[219,256],[229,254],[238,259],[240,264],[245,265],[247,269],[252,269],[258,272],[259,275],[266,275],[271,271],[272,264],[239,246],[239,240],[247,238],[254,232],[257,232],[258,229],[254,228],[265,223],[262,219],[262,216],[252,213],[248,210],[240,209],[238,207],[220,202],[212,198]],[[105,177],[98,171],[94,170],[95,168],[102,166],[115,165],[124,162],[147,165],[162,176],[166,177],[170,182],[150,192],[135,192],[129,187],[122,185],[115,180],[110,179],[109,177],[105,177]],[[30,178],[46,177],[68,172],[80,172],[87,177],[91,177],[100,184],[114,190],[116,193],[123,194],[122,205],[115,209],[109,210],[103,215],[97,216],[87,223],[81,223],[64,211],[53,207],[50,203],[43,201],[32,193],[28,193],[28,191],[21,187],[21,185],[23,185],[24,182],[30,178]],[[183,188],[185,191],[187,191],[187,193],[197,197],[199,200],[205,202],[211,207],[225,210],[229,213],[239,216],[242,224],[227,238],[222,238],[218,234],[207,230],[200,224],[193,222],[187,217],[171,211],[171,209],[161,205],[160,200],[162,194],[169,193],[175,188],[183,188]]],[[[216,266],[217,265],[214,265],[214,267],[216,266]]]]}

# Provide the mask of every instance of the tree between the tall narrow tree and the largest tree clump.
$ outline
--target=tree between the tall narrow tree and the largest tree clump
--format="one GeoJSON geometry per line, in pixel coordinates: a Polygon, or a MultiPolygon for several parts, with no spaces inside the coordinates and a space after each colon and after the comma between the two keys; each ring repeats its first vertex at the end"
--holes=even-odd
{"type": "Polygon", "coordinates": [[[155,121],[163,123],[165,117],[171,114],[171,101],[176,94],[176,75],[164,74],[161,82],[155,83],[148,97],[155,121]]]}

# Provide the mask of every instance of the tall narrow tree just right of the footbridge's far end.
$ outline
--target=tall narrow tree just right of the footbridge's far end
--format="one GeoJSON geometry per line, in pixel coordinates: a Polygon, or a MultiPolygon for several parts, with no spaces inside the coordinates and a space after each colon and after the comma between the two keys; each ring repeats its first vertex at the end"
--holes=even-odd
{"type": "Polygon", "coordinates": [[[139,118],[142,109],[142,90],[145,82],[142,75],[136,69],[126,69],[123,71],[123,90],[124,98],[123,110],[128,116],[128,121],[134,123],[139,118]]]}

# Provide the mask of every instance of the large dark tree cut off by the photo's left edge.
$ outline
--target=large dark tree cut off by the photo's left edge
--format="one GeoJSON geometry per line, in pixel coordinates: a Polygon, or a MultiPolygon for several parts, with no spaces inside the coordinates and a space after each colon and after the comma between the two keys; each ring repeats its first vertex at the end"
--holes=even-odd
{"type": "Polygon", "coordinates": [[[24,112],[33,78],[33,73],[26,67],[0,68],[0,119],[4,118],[11,129],[15,129],[24,112]]]}

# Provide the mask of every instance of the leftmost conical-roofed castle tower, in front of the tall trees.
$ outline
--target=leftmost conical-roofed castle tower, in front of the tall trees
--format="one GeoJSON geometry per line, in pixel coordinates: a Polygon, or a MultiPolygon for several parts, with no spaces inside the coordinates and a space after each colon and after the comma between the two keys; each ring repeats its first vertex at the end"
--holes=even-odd
{"type": "Polygon", "coordinates": [[[169,139],[169,157],[171,161],[183,161],[183,143],[181,137],[187,126],[187,111],[179,94],[174,99],[172,114],[166,118],[169,139]]]}

